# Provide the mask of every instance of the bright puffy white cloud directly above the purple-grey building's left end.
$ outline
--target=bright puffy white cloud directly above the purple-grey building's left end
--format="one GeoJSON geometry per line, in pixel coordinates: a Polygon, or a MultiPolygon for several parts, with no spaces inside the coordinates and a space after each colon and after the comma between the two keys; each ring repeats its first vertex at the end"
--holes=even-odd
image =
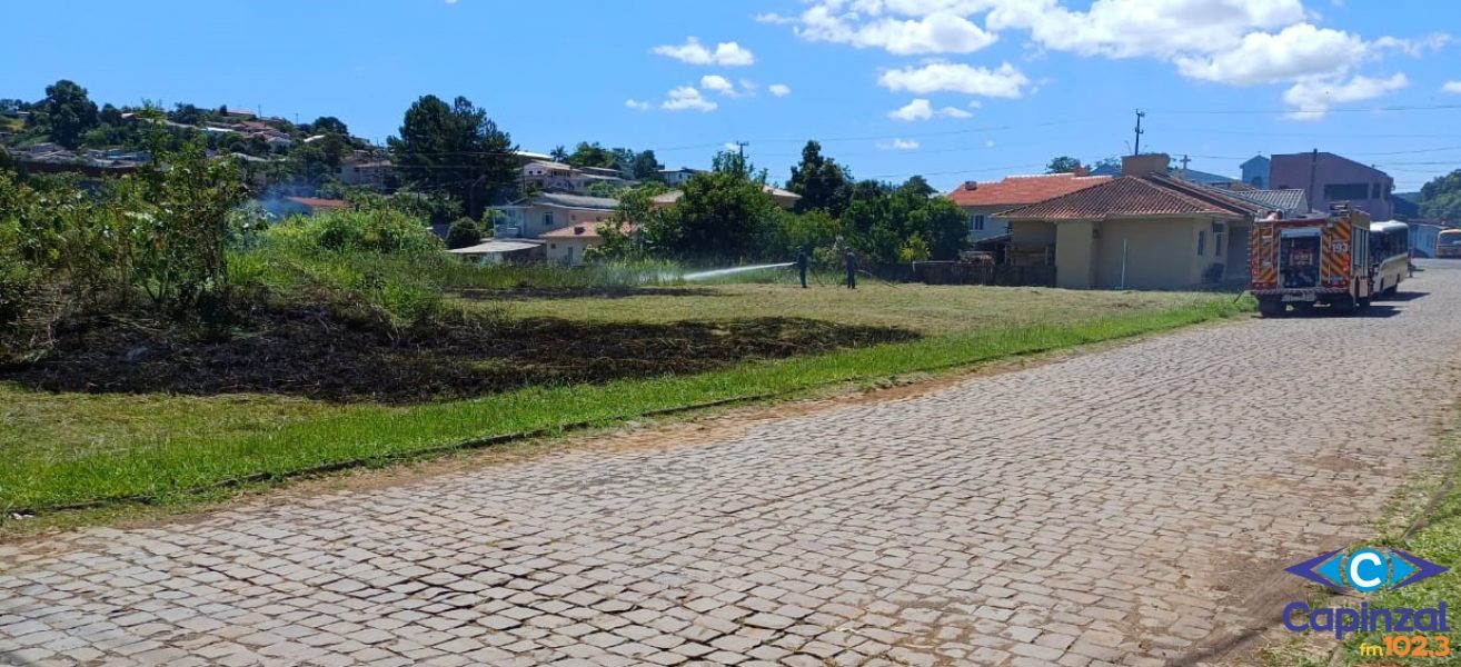
{"type": "Polygon", "coordinates": [[[1216,55],[1179,57],[1176,66],[1189,79],[1252,86],[1330,76],[1363,58],[1365,41],[1359,36],[1296,23],[1278,34],[1251,32],[1236,48],[1216,55]]]}

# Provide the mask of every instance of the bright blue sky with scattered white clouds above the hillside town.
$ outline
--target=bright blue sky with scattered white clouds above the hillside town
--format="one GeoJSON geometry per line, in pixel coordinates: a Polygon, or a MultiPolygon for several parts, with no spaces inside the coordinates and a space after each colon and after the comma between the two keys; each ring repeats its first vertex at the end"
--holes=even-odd
{"type": "Polygon", "coordinates": [[[1461,4],[1430,0],[47,0],[10,3],[0,96],[336,115],[393,134],[465,95],[524,149],[596,140],[706,166],[802,143],[935,185],[1144,149],[1236,174],[1331,150],[1400,190],[1461,168],[1461,4]],[[773,86],[777,88],[773,93],[773,86]],[[1449,89],[1449,90],[1448,90],[1449,89]],[[1454,90],[1454,92],[1452,92],[1454,90]]]}

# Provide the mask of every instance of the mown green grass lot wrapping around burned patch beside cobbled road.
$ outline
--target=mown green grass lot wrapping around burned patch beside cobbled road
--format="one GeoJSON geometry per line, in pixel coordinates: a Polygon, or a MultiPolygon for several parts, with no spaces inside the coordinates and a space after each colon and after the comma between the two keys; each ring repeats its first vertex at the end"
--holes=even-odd
{"type": "Polygon", "coordinates": [[[186,501],[197,489],[228,480],[270,483],[311,469],[381,464],[472,439],[605,425],[713,401],[783,397],[837,382],[1135,336],[1248,309],[1232,295],[881,283],[856,292],[728,285],[674,295],[562,296],[494,301],[492,306],[506,304],[510,317],[586,321],[808,317],[899,325],[925,337],[742,362],[695,375],[533,385],[409,406],[278,394],[45,393],[0,382],[0,509],[47,512],[134,496],[186,501]]]}

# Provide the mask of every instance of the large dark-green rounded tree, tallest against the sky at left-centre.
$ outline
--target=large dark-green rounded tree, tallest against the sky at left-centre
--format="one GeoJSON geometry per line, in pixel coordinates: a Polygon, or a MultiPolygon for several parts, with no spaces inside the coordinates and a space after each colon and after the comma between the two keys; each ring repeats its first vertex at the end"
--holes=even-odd
{"type": "Polygon", "coordinates": [[[511,137],[466,98],[447,105],[434,95],[406,109],[400,137],[389,140],[396,169],[413,187],[449,193],[482,210],[517,182],[511,137]]]}

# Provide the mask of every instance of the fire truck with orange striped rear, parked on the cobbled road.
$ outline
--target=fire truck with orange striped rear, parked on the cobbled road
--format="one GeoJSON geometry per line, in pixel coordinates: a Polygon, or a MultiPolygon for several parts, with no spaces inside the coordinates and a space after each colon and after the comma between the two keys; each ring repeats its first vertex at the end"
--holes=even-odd
{"type": "MultiPolygon", "coordinates": [[[[1379,238],[1388,234],[1381,229],[1379,238]]],[[[1290,308],[1351,312],[1369,306],[1376,286],[1372,257],[1389,258],[1370,254],[1372,238],[1369,216],[1350,204],[1334,204],[1328,216],[1254,222],[1248,263],[1258,312],[1277,317],[1290,308]]]]}

